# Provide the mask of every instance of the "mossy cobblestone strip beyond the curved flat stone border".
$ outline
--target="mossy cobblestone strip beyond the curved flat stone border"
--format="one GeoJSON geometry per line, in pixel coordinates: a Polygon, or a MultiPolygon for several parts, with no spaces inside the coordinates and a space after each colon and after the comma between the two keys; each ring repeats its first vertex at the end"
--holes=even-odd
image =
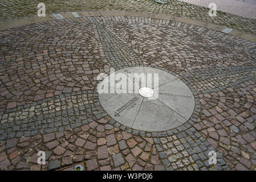
{"type": "MultiPolygon", "coordinates": [[[[208,15],[209,9],[202,6],[192,5],[190,3],[181,2],[178,0],[165,0],[168,2],[165,5],[156,3],[153,0],[100,0],[100,1],[46,1],[46,13],[56,13],[63,11],[79,11],[79,10],[119,10],[119,11],[138,11],[144,13],[164,13],[184,18],[202,20],[204,22],[216,23],[229,28],[242,30],[256,34],[255,19],[247,19],[241,16],[221,13],[218,11],[216,17],[208,15]]],[[[16,1],[3,0],[0,3],[0,20],[13,19],[28,15],[37,14],[38,3],[40,0],[32,1],[16,1]]],[[[254,5],[253,5],[254,6],[254,5]]],[[[255,11],[254,11],[255,14],[255,11]]]]}

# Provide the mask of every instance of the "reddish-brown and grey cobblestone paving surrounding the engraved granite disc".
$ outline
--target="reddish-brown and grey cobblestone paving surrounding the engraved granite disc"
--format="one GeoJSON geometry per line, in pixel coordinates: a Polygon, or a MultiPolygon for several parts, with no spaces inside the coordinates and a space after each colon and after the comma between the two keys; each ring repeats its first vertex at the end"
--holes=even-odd
{"type": "Polygon", "coordinates": [[[1,31],[0,44],[1,170],[255,170],[253,42],[172,20],[90,16],[1,31]],[[97,75],[141,65],[189,86],[188,122],[144,132],[104,111],[97,75]]]}

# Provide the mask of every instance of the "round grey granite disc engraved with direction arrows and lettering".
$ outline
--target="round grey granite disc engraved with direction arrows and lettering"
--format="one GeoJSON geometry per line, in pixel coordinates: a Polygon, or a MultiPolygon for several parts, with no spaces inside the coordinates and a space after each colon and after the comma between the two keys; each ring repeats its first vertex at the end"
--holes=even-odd
{"type": "Polygon", "coordinates": [[[143,131],[165,131],[188,121],[191,90],[176,76],[151,67],[112,72],[97,87],[100,104],[117,122],[143,131]]]}

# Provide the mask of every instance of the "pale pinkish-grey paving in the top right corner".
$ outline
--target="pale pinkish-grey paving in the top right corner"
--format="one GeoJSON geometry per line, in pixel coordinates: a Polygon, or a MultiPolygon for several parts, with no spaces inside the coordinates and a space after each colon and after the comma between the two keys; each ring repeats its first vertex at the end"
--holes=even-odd
{"type": "Polygon", "coordinates": [[[208,7],[210,3],[216,3],[217,10],[245,18],[256,19],[256,1],[254,0],[180,0],[197,6],[208,7]]]}

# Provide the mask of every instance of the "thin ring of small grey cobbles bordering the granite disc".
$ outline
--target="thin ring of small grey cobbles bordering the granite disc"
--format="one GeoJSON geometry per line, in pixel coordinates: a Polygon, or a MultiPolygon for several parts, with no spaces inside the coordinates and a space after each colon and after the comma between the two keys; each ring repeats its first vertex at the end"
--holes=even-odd
{"type": "MultiPolygon", "coordinates": [[[[135,65],[135,67],[138,67],[138,66],[141,66],[141,65],[139,65],[139,64],[135,65]]],[[[128,67],[129,66],[124,66],[124,67],[116,68],[116,71],[118,71],[119,69],[128,68],[128,67]]],[[[144,65],[144,67],[152,67],[152,68],[156,68],[156,69],[161,69],[162,71],[168,72],[168,73],[170,73],[170,74],[180,78],[181,81],[185,82],[185,84],[188,86],[188,88],[191,90],[191,92],[193,93],[193,96],[194,96],[195,107],[194,107],[193,114],[188,119],[188,121],[186,121],[181,126],[178,126],[178,127],[174,128],[174,129],[170,129],[170,130],[166,130],[166,131],[141,131],[141,130],[131,129],[128,126],[125,126],[125,125],[115,121],[115,119],[113,119],[112,117],[111,117],[112,119],[109,121],[109,123],[111,125],[119,128],[122,131],[127,131],[127,133],[131,133],[132,135],[140,135],[141,137],[168,137],[168,136],[171,136],[173,134],[178,134],[181,131],[186,131],[187,129],[190,129],[190,127],[192,127],[192,125],[194,125],[194,123],[197,122],[198,115],[199,115],[199,113],[201,111],[200,101],[199,101],[199,97],[197,96],[196,89],[194,89],[193,86],[191,86],[189,84],[189,82],[184,80],[184,78],[181,78],[177,73],[169,71],[168,69],[161,68],[161,67],[158,67],[158,66],[152,66],[152,65],[144,65]]],[[[97,81],[97,84],[96,84],[95,90],[94,90],[94,100],[97,100],[96,102],[99,102],[99,97],[98,97],[98,93],[97,93],[97,85],[100,84],[100,82],[101,82],[101,80],[97,81]]]]}

